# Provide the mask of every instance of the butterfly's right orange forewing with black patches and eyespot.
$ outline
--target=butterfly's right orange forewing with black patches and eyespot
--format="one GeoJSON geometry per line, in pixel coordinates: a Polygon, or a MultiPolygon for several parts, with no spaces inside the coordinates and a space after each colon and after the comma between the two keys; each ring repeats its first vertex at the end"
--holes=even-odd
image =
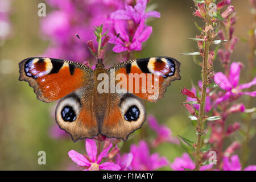
{"type": "Polygon", "coordinates": [[[108,71],[115,72],[118,88],[150,102],[162,99],[171,81],[180,80],[180,63],[171,57],[130,60],[108,71]]]}

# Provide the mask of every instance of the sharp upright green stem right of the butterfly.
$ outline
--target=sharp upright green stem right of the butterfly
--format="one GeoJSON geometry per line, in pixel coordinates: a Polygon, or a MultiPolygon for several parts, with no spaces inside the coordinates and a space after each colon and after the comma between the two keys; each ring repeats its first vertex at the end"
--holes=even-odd
{"type": "MultiPolygon", "coordinates": [[[[206,23],[206,26],[208,23],[206,23]]],[[[209,32],[207,34],[207,41],[205,41],[204,45],[204,58],[203,58],[203,86],[202,86],[202,93],[201,93],[201,102],[199,107],[199,118],[197,122],[197,140],[196,140],[196,168],[195,170],[198,171],[201,165],[201,158],[200,158],[200,149],[201,149],[201,137],[203,135],[203,122],[204,122],[204,107],[205,107],[205,97],[207,93],[207,83],[208,83],[208,56],[210,51],[210,40],[209,40],[209,32]]]]}

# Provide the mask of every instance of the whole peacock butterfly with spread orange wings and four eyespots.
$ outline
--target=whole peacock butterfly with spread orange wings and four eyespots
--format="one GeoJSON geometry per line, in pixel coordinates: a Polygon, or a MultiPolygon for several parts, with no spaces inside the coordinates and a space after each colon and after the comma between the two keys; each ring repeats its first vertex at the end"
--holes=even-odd
{"type": "Polygon", "coordinates": [[[74,141],[99,134],[125,141],[145,121],[142,100],[161,99],[171,81],[180,79],[179,67],[171,57],[130,60],[109,69],[99,61],[95,70],[73,61],[30,57],[19,63],[19,80],[28,81],[39,100],[60,99],[56,122],[74,141]]]}

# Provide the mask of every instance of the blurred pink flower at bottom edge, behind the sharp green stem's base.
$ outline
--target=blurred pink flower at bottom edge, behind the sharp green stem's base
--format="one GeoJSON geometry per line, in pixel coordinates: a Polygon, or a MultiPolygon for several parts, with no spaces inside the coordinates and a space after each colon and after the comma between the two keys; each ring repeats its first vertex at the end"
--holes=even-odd
{"type": "MultiPolygon", "coordinates": [[[[184,171],[185,169],[195,169],[196,165],[187,153],[184,153],[181,158],[175,158],[170,166],[175,171],[184,171]]],[[[206,171],[213,167],[213,164],[201,166],[200,171],[206,171]]]]}

